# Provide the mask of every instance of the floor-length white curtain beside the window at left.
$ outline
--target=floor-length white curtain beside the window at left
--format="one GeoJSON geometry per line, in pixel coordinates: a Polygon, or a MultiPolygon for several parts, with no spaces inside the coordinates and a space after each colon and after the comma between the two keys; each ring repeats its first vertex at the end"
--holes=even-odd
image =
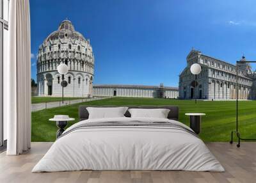
{"type": "Polygon", "coordinates": [[[18,155],[31,144],[29,0],[11,0],[9,13],[9,60],[4,63],[6,154],[18,155]]]}

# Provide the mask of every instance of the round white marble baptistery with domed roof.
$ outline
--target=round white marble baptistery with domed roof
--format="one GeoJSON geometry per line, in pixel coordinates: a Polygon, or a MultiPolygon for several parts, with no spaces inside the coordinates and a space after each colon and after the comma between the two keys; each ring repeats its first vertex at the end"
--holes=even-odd
{"type": "Polygon", "coordinates": [[[68,66],[64,96],[92,96],[94,68],[92,46],[90,40],[75,31],[69,20],[63,20],[58,30],[51,33],[39,47],[37,58],[39,96],[61,97],[61,75],[57,71],[60,63],[68,66]]]}

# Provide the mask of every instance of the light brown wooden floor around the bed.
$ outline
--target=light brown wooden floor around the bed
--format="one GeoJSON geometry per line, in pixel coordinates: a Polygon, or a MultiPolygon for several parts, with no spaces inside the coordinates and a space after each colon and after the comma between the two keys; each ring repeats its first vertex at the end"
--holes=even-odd
{"type": "Polygon", "coordinates": [[[31,173],[52,143],[32,143],[31,150],[17,156],[0,154],[0,182],[256,182],[256,143],[207,143],[225,172],[195,171],[65,171],[31,173]]]}

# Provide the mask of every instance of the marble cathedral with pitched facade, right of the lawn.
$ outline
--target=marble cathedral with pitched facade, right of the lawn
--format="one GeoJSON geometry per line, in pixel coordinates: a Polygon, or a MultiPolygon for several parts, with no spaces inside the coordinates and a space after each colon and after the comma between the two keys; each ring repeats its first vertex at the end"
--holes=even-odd
{"type": "MultiPolygon", "coordinates": [[[[248,63],[242,62],[237,65],[239,87],[236,88],[236,65],[206,56],[193,49],[186,60],[187,67],[179,76],[179,98],[229,100],[236,99],[238,90],[239,99],[255,99],[256,74],[252,72],[248,63]],[[193,63],[199,63],[202,67],[195,88],[192,84],[195,76],[190,72],[193,63]]],[[[241,61],[245,61],[244,56],[241,61]]]]}

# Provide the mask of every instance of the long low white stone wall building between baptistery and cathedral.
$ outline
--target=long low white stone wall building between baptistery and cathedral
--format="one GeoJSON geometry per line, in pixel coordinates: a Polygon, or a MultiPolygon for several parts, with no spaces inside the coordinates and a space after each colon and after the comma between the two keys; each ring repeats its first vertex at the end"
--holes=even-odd
{"type": "Polygon", "coordinates": [[[177,99],[179,88],[122,84],[93,84],[93,96],[145,97],[177,99]]]}

